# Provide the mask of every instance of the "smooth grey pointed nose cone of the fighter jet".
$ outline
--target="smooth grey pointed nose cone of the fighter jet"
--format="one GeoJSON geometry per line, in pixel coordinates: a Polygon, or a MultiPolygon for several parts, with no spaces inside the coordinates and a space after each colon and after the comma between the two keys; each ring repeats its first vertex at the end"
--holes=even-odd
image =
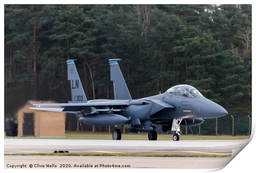
{"type": "Polygon", "coordinates": [[[206,103],[204,113],[205,118],[218,118],[228,114],[228,112],[222,106],[210,100],[208,100],[206,103]]]}

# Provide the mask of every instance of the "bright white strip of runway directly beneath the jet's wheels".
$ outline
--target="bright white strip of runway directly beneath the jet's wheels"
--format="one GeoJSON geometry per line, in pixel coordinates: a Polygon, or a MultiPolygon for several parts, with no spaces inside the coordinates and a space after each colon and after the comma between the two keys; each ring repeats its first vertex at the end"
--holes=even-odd
{"type": "Polygon", "coordinates": [[[5,139],[5,145],[91,145],[91,146],[147,146],[147,147],[225,147],[247,145],[247,140],[59,140],[59,139],[5,139]]]}

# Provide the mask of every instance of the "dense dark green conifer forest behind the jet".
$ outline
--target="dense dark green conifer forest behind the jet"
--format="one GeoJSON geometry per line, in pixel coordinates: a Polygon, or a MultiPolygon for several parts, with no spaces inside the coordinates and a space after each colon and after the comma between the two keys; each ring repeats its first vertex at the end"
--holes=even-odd
{"type": "Polygon", "coordinates": [[[250,115],[251,20],[251,5],[5,5],[5,117],[71,100],[67,59],[88,100],[113,99],[109,58],[134,99],[189,84],[250,115]]]}

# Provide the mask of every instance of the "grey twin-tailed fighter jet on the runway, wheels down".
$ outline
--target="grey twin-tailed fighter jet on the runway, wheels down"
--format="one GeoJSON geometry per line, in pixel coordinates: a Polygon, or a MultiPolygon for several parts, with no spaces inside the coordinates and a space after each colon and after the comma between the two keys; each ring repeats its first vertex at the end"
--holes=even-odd
{"type": "Polygon", "coordinates": [[[148,132],[149,140],[157,140],[155,125],[161,125],[164,132],[175,131],[173,140],[178,141],[181,128],[196,126],[203,123],[204,119],[228,114],[223,107],[205,98],[196,88],[185,84],[173,86],[163,94],[132,99],[118,61],[120,59],[109,59],[114,100],[87,101],[74,60],[67,60],[72,101],[35,104],[36,107],[31,109],[68,112],[75,114],[80,122],[88,125],[116,126],[112,133],[113,140],[121,140],[120,129],[128,124],[130,132],[148,132]],[[54,108],[59,106],[63,108],[54,108]]]}

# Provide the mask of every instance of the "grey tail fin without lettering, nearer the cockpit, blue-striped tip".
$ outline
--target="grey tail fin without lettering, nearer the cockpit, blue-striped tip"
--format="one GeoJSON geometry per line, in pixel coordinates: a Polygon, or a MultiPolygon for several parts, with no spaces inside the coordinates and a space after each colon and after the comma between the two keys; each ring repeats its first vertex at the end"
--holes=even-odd
{"type": "Polygon", "coordinates": [[[131,100],[130,92],[117,62],[120,60],[121,59],[109,59],[110,80],[113,81],[115,100],[131,100]]]}

